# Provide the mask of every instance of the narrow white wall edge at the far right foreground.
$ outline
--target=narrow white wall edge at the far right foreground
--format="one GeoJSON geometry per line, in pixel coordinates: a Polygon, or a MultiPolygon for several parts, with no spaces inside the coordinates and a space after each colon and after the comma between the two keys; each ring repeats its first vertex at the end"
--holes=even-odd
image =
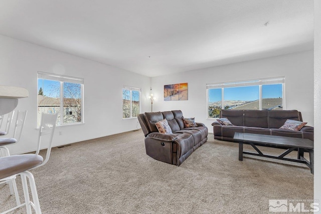
{"type": "MultiPolygon", "coordinates": [[[[314,0],[314,199],[321,208],[321,1],[314,0]]],[[[318,212],[321,213],[321,210],[318,212]]]]}

